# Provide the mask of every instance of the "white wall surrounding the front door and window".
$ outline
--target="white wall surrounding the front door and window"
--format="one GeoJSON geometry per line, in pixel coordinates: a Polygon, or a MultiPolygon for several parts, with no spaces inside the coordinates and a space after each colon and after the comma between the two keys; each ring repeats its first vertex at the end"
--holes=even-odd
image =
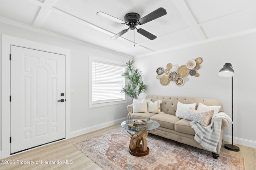
{"type": "MultiPolygon", "coordinates": [[[[76,95],[70,96],[70,137],[114,125],[126,119],[128,113],[126,107],[131,103],[130,99],[126,104],[89,108],[88,62],[89,55],[108,58],[120,63],[126,63],[130,57],[72,43],[5,23],[0,23],[1,39],[2,34],[70,49],[70,89],[76,90],[76,95]]],[[[0,55],[2,57],[2,41],[0,41],[0,55]]],[[[2,58],[0,59],[0,67],[0,76],[2,76],[2,58]]],[[[2,89],[2,77],[0,80],[0,88],[2,89]]],[[[0,96],[2,96],[2,90],[0,96]]],[[[2,105],[2,98],[0,98],[0,105],[2,105]]],[[[2,106],[0,124],[0,150],[2,150],[2,106]]]]}

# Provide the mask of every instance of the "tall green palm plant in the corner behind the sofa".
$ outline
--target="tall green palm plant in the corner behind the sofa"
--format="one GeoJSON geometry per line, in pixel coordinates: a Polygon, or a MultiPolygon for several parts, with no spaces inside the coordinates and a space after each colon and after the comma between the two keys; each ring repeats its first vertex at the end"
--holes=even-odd
{"type": "Polygon", "coordinates": [[[130,96],[133,99],[138,99],[138,96],[141,93],[144,93],[148,86],[143,83],[142,71],[133,66],[134,61],[129,60],[124,65],[126,66],[125,72],[121,75],[125,77],[126,80],[129,80],[128,84],[126,84],[121,93],[130,96]]]}

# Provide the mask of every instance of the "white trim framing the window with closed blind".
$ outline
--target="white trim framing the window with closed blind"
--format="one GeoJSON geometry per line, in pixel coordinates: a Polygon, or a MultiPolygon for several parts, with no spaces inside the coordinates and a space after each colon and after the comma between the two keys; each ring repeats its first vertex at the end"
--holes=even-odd
{"type": "Polygon", "coordinates": [[[125,100],[110,101],[110,102],[104,102],[104,103],[94,103],[94,104],[92,103],[92,62],[95,62],[95,61],[98,61],[100,63],[109,63],[109,64],[117,64],[117,65],[125,64],[125,63],[121,63],[121,62],[110,60],[110,59],[104,59],[101,57],[89,56],[89,108],[127,103],[126,96],[125,96],[125,100]]]}

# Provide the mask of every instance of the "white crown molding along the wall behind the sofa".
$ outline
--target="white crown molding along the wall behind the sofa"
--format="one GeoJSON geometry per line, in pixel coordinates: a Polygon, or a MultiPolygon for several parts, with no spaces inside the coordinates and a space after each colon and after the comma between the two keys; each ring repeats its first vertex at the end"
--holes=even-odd
{"type": "Polygon", "coordinates": [[[203,40],[203,41],[196,41],[196,42],[193,42],[193,43],[187,43],[187,44],[184,44],[184,45],[170,47],[170,48],[154,51],[152,53],[147,53],[147,54],[144,54],[144,55],[137,55],[137,56],[133,56],[133,57],[134,57],[134,59],[141,58],[141,57],[148,57],[148,56],[155,55],[155,54],[166,53],[168,51],[174,51],[174,50],[177,50],[177,49],[183,49],[183,48],[192,47],[192,46],[196,46],[196,45],[211,43],[211,42],[220,41],[220,40],[228,39],[228,38],[232,38],[232,37],[239,37],[241,35],[246,35],[246,34],[251,34],[251,33],[256,33],[256,28],[247,29],[247,30],[244,30],[244,31],[239,31],[239,32],[231,33],[231,34],[227,34],[227,35],[222,35],[222,36],[219,36],[219,37],[209,38],[209,39],[206,39],[206,40],[203,40]]]}

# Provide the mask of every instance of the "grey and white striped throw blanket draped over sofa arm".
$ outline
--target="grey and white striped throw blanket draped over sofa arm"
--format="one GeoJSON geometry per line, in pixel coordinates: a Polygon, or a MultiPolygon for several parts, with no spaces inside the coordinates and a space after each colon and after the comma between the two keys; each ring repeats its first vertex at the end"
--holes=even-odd
{"type": "Polygon", "coordinates": [[[207,127],[204,127],[195,121],[189,123],[196,132],[194,139],[200,143],[202,147],[212,152],[216,152],[218,141],[220,140],[222,118],[227,119],[229,123],[233,124],[232,119],[223,112],[213,115],[212,120],[207,127]]]}

